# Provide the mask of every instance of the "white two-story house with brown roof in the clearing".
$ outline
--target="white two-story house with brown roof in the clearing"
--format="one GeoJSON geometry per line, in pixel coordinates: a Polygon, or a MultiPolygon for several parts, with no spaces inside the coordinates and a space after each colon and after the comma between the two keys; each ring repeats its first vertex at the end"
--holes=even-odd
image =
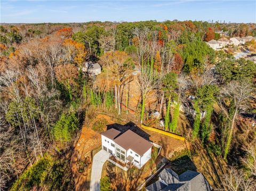
{"type": "Polygon", "coordinates": [[[141,168],[151,158],[153,144],[132,130],[123,133],[114,128],[101,133],[102,149],[124,164],[141,168]]]}

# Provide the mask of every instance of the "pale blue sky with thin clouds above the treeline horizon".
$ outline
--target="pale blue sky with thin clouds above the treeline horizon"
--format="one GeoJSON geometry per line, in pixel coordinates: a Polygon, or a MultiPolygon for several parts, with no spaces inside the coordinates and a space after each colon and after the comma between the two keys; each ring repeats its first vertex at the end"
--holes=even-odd
{"type": "Polygon", "coordinates": [[[256,1],[2,1],[1,22],[213,20],[256,23],[256,1]]]}

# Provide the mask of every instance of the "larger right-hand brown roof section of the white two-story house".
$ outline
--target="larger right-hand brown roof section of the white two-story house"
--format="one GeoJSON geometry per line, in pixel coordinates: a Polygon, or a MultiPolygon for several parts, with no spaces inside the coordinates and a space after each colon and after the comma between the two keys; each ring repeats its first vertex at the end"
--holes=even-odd
{"type": "Polygon", "coordinates": [[[153,145],[130,129],[115,138],[115,143],[126,151],[129,148],[139,155],[146,153],[153,145]]]}

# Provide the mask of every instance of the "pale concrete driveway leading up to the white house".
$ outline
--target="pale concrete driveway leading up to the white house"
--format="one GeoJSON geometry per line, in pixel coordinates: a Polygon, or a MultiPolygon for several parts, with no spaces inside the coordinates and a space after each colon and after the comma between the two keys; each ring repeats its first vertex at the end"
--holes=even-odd
{"type": "Polygon", "coordinates": [[[93,156],[90,191],[100,191],[100,179],[103,164],[109,158],[110,153],[100,150],[93,156]]]}

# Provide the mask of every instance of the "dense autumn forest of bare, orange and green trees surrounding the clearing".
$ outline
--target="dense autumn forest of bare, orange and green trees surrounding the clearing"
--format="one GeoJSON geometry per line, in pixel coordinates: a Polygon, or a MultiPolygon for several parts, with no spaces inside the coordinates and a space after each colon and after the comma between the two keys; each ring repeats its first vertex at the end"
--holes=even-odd
{"type": "MultiPolygon", "coordinates": [[[[165,131],[227,163],[218,189],[255,190],[255,117],[247,122],[243,115],[256,113],[256,64],[210,48],[205,41],[219,39],[217,31],[255,37],[256,25],[177,20],[1,25],[0,189],[74,190],[70,157],[83,124],[95,111],[123,119],[135,71],[134,122],[153,123],[147,103],[155,98],[165,131]],[[107,87],[82,71],[86,61],[100,63],[102,74],[109,74],[107,87]],[[181,105],[195,111],[183,130],[181,105]]],[[[255,40],[245,46],[254,51],[255,40]]]]}

